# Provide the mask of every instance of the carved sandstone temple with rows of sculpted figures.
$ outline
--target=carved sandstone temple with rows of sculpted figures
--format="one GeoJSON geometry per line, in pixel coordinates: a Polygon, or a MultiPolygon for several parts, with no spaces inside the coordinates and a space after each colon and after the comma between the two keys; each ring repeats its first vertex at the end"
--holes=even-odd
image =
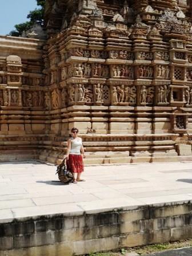
{"type": "Polygon", "coordinates": [[[192,159],[192,1],[47,0],[45,31],[0,37],[0,161],[192,159]]]}

